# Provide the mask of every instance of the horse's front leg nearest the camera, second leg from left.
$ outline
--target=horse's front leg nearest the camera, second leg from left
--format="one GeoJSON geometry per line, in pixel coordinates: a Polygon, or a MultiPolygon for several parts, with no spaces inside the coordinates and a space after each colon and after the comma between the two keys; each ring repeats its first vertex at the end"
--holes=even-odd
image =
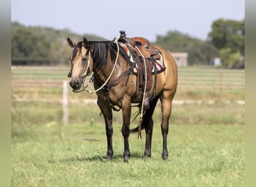
{"type": "Polygon", "coordinates": [[[131,117],[131,103],[126,102],[123,103],[123,126],[122,126],[122,134],[124,137],[124,162],[128,162],[130,152],[129,152],[129,122],[131,117]]]}

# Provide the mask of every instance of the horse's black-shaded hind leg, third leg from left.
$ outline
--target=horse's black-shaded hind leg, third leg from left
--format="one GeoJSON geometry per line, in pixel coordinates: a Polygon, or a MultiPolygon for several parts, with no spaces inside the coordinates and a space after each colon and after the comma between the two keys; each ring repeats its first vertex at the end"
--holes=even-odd
{"type": "Polygon", "coordinates": [[[159,97],[156,97],[153,99],[152,102],[150,102],[150,108],[147,109],[146,114],[144,114],[144,118],[142,121],[142,126],[145,127],[146,131],[146,141],[145,141],[145,150],[144,150],[144,157],[150,157],[151,156],[151,144],[152,144],[152,132],[153,132],[153,111],[156,107],[156,103],[158,101],[159,97]]]}

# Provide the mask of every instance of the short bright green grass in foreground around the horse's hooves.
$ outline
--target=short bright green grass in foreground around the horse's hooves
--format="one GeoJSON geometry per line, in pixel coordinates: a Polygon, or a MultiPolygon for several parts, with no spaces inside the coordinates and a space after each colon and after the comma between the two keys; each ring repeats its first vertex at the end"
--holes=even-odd
{"type": "Polygon", "coordinates": [[[144,139],[130,135],[128,164],[118,126],[111,162],[102,124],[69,124],[61,136],[59,128],[52,123],[13,138],[12,186],[245,186],[244,126],[171,126],[167,161],[155,126],[152,157],[143,159],[144,139]]]}

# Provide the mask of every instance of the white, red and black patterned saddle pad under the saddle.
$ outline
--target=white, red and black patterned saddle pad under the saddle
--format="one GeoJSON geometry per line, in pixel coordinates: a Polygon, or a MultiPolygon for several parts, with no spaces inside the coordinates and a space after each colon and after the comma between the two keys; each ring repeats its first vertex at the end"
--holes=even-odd
{"type": "MultiPolygon", "coordinates": [[[[127,47],[127,45],[125,43],[120,42],[119,44],[124,49],[124,51],[127,53],[127,56],[129,57],[129,60],[133,64],[135,63],[135,67],[133,68],[133,73],[137,74],[138,73],[138,64],[134,60],[132,53],[130,52],[129,48],[127,47]]],[[[165,63],[164,63],[164,60],[162,58],[162,53],[158,49],[156,49],[156,48],[154,48],[154,49],[156,50],[157,53],[159,53],[160,58],[158,60],[154,60],[154,63],[156,64],[156,66],[153,65],[152,74],[154,74],[155,71],[156,71],[156,73],[162,73],[165,70],[165,63]],[[156,67],[156,70],[155,70],[155,67],[156,67]]]]}

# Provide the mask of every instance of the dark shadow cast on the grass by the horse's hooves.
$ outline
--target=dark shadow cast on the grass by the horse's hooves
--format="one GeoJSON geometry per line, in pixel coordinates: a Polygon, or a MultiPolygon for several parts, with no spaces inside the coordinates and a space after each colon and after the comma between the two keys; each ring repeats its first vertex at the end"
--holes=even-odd
{"type": "MultiPolygon", "coordinates": [[[[144,159],[144,156],[142,153],[131,153],[130,159],[144,159]]],[[[68,163],[68,162],[112,162],[112,161],[118,161],[118,160],[123,160],[123,155],[118,154],[114,155],[111,160],[107,159],[107,156],[72,156],[70,158],[65,158],[65,159],[60,159],[59,161],[57,160],[48,160],[49,163],[56,163],[56,162],[61,162],[61,163],[68,163]]]]}

